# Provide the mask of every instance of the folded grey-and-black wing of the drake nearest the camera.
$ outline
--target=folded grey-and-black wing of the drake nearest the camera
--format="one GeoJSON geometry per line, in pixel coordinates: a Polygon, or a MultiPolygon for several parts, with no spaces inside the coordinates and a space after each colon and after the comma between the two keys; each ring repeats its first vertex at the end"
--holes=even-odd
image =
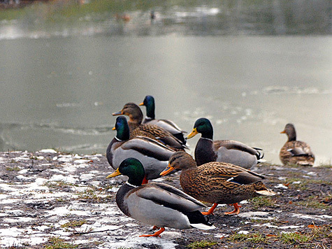
{"type": "Polygon", "coordinates": [[[163,183],[149,183],[138,187],[138,197],[153,201],[155,204],[166,206],[182,212],[198,211],[206,206],[190,197],[185,192],[163,183]]]}

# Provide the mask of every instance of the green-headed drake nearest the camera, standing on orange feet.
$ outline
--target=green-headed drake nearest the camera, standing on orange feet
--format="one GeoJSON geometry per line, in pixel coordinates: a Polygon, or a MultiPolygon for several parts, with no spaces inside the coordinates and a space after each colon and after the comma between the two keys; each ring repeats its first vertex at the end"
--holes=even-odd
{"type": "Polygon", "coordinates": [[[160,228],[154,234],[141,236],[160,236],[165,227],[177,229],[213,229],[199,210],[205,205],[189,197],[184,192],[163,183],[142,185],[144,167],[136,158],[124,159],[119,168],[107,178],[119,175],[128,176],[128,182],[117,190],[117,206],[125,215],[160,228]]]}

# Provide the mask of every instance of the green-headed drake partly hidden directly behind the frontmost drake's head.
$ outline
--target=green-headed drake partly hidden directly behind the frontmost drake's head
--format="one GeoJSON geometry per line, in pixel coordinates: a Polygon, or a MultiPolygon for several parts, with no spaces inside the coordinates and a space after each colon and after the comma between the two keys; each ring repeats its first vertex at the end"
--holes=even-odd
{"type": "Polygon", "coordinates": [[[159,178],[159,173],[166,168],[175,151],[145,136],[129,139],[129,126],[124,116],[117,117],[113,129],[117,130],[117,135],[106,150],[110,166],[117,169],[124,159],[135,157],[144,164],[146,180],[159,178]]]}

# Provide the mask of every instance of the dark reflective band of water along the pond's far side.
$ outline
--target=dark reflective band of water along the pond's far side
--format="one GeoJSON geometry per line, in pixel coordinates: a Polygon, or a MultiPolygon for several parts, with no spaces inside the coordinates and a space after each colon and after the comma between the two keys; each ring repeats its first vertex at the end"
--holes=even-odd
{"type": "MultiPolygon", "coordinates": [[[[51,4],[51,3],[50,3],[51,4]]],[[[114,13],[88,13],[78,20],[45,22],[45,9],[29,13],[20,21],[6,20],[0,24],[0,39],[45,38],[50,36],[138,35],[284,35],[331,34],[332,6],[330,0],[311,1],[209,1],[187,6],[155,6],[150,10],[130,10],[130,21],[114,13]],[[154,20],[151,20],[151,11],[154,20]]]]}

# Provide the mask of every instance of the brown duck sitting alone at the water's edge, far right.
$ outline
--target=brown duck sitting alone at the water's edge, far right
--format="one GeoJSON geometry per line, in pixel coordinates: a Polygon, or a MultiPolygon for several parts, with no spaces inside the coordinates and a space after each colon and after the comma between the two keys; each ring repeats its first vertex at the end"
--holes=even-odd
{"type": "Polygon", "coordinates": [[[315,155],[307,143],[296,141],[296,131],[293,124],[287,124],[280,133],[285,133],[288,136],[288,141],[282,146],[279,153],[280,161],[283,164],[314,165],[315,155]]]}

